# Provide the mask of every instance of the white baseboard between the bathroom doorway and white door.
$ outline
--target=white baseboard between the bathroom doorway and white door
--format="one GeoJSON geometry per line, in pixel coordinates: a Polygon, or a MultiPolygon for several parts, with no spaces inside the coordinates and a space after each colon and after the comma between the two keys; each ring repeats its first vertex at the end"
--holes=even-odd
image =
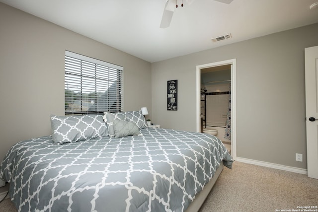
{"type": "Polygon", "coordinates": [[[242,163],[249,163],[249,164],[254,164],[258,166],[265,166],[269,168],[274,168],[274,169],[280,169],[284,171],[290,171],[290,172],[295,172],[299,174],[306,174],[307,175],[307,169],[302,169],[302,168],[297,168],[297,167],[292,167],[292,166],[284,166],[276,163],[269,163],[269,162],[264,162],[264,161],[259,161],[259,160],[252,160],[252,159],[246,159],[242,157],[237,157],[236,159],[239,162],[242,163]]]}

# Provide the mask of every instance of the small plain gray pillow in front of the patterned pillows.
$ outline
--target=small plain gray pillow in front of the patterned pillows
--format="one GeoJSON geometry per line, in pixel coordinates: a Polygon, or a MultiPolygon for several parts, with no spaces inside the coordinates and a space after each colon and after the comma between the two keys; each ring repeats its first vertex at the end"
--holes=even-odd
{"type": "Polygon", "coordinates": [[[141,135],[137,125],[134,122],[127,122],[121,120],[114,120],[115,138],[121,138],[126,136],[138,136],[141,135]]]}

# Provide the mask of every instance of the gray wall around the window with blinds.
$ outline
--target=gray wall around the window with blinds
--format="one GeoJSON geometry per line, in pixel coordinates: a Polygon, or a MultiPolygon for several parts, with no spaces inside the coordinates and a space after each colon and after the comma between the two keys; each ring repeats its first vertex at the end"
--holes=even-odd
{"type": "Polygon", "coordinates": [[[123,66],[124,110],[151,114],[150,63],[0,3],[1,159],[17,141],[50,135],[50,115],[64,115],[65,50],[123,66]]]}

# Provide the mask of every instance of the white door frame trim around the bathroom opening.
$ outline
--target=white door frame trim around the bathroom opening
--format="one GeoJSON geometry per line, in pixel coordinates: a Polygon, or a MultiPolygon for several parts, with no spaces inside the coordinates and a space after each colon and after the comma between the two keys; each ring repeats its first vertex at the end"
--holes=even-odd
{"type": "Polygon", "coordinates": [[[237,158],[237,113],[236,113],[236,59],[219,61],[209,64],[198,65],[196,67],[196,130],[201,132],[201,101],[200,101],[200,91],[201,91],[201,69],[217,67],[223,65],[232,65],[231,68],[231,155],[234,160],[237,158]]]}

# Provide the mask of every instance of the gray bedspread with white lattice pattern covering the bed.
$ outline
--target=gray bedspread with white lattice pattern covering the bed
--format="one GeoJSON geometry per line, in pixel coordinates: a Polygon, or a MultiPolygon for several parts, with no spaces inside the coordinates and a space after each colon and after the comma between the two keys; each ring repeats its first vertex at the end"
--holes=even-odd
{"type": "Polygon", "coordinates": [[[214,136],[145,128],[143,136],[63,145],[52,137],[13,145],[0,167],[21,212],[184,211],[222,160],[233,159],[214,136]]]}

